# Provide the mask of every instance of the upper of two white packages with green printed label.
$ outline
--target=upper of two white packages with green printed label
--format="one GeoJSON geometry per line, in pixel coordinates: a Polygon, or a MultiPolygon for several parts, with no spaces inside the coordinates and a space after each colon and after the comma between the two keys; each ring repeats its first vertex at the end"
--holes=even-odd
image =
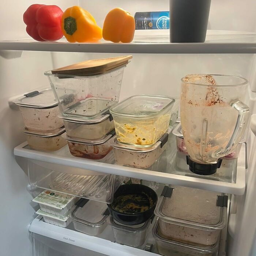
{"type": "Polygon", "coordinates": [[[64,216],[74,206],[77,197],[56,193],[46,189],[32,201],[38,203],[41,210],[57,216],[64,216]]]}

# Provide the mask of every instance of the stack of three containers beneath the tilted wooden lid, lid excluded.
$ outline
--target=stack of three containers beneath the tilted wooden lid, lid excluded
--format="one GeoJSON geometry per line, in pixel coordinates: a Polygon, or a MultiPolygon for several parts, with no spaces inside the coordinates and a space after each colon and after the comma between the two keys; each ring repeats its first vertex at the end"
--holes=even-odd
{"type": "MultiPolygon", "coordinates": [[[[111,150],[114,122],[109,108],[118,103],[126,64],[95,75],[45,72],[59,102],[59,117],[66,133],[69,151],[75,157],[102,159],[111,150]]],[[[97,72],[96,72],[97,73],[97,72]]]]}

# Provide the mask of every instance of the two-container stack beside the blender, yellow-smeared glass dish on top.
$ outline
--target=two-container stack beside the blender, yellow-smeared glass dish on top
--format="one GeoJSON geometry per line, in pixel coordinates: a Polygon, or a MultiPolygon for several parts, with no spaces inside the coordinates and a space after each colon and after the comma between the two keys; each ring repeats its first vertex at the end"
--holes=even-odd
{"type": "Polygon", "coordinates": [[[110,108],[118,164],[147,168],[155,162],[167,145],[174,102],[167,96],[135,95],[110,108]]]}

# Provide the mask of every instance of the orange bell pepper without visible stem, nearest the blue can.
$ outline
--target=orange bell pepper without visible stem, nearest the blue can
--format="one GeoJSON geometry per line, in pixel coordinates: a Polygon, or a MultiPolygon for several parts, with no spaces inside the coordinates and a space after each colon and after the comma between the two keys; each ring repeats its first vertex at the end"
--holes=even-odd
{"type": "Polygon", "coordinates": [[[106,41],[129,43],[133,39],[134,31],[133,16],[121,8],[114,8],[104,20],[102,35],[106,41]]]}

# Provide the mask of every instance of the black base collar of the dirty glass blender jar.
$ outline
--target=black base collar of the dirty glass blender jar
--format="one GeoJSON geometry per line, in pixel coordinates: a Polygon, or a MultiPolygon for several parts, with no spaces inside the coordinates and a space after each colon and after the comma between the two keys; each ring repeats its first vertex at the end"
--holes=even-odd
{"type": "Polygon", "coordinates": [[[214,174],[219,167],[221,167],[222,159],[218,159],[217,163],[196,163],[192,161],[189,157],[187,157],[187,164],[189,165],[189,170],[193,173],[199,174],[199,175],[211,175],[214,174]]]}

